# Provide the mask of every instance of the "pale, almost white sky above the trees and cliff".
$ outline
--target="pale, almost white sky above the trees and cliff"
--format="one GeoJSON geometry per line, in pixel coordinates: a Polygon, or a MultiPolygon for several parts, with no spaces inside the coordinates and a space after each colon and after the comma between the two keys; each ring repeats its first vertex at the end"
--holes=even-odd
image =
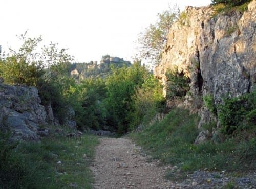
{"type": "Polygon", "coordinates": [[[177,4],[206,6],[210,0],[0,0],[0,45],[16,49],[16,35],[42,36],[42,44],[59,43],[76,62],[99,61],[103,55],[132,61],[138,34],[157,13],[177,4]]]}

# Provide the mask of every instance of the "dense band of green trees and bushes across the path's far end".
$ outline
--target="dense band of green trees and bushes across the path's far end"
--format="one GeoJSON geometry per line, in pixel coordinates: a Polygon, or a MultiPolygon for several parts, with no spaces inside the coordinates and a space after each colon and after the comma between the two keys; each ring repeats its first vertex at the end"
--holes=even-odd
{"type": "Polygon", "coordinates": [[[129,67],[112,65],[108,77],[78,83],[69,76],[73,58],[65,49],[59,51],[51,43],[38,53],[41,37],[22,35],[20,39],[23,45],[18,52],[1,57],[0,77],[8,84],[37,87],[42,103],[51,104],[60,124],[65,121],[67,108],[72,107],[78,129],[123,134],[139,124],[142,114],[153,116],[158,104],[164,102],[160,83],[139,61],[129,67]],[[140,110],[143,96],[148,96],[147,107],[140,110]]]}

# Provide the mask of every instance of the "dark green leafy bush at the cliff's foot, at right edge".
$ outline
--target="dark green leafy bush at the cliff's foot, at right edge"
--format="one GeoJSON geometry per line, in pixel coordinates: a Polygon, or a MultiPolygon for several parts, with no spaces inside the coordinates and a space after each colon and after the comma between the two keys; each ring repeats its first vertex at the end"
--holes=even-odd
{"type": "Polygon", "coordinates": [[[234,98],[224,98],[218,107],[223,134],[235,134],[253,127],[255,123],[256,91],[234,98]]]}

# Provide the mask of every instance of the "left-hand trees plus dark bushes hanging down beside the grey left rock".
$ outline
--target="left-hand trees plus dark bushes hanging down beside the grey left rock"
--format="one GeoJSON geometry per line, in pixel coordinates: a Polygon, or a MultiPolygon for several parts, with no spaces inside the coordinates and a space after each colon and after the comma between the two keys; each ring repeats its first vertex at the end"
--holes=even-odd
{"type": "Polygon", "coordinates": [[[26,33],[19,36],[23,44],[18,52],[10,49],[10,55],[0,62],[0,77],[8,84],[24,84],[38,88],[44,105],[51,104],[55,115],[63,121],[69,106],[63,90],[74,84],[68,78],[70,61],[73,59],[65,49],[58,50],[57,44],[50,43],[42,51],[38,45],[41,37],[28,38],[26,33]]]}

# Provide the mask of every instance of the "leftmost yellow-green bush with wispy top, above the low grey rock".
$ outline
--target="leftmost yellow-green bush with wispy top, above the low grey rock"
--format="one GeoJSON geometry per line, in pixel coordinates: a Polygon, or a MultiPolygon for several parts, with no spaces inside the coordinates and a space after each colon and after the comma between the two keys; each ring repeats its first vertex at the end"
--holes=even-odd
{"type": "Polygon", "coordinates": [[[35,53],[41,37],[27,38],[26,32],[19,36],[23,41],[18,52],[10,49],[11,55],[3,57],[0,63],[0,77],[9,84],[24,84],[36,86],[39,77],[44,74],[42,62],[38,61],[39,55],[35,53]]]}

